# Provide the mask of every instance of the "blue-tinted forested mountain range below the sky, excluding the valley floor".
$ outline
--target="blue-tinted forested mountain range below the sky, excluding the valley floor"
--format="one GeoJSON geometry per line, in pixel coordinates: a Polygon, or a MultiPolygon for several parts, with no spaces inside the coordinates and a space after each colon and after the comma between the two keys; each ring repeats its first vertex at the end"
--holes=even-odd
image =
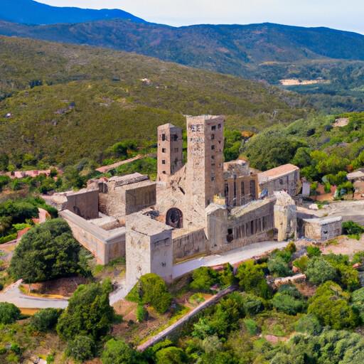
{"type": "Polygon", "coordinates": [[[364,60],[364,36],[329,28],[264,23],[173,28],[122,20],[50,26],[0,23],[5,36],[96,45],[246,76],[251,67],[303,60],[364,60]]]}

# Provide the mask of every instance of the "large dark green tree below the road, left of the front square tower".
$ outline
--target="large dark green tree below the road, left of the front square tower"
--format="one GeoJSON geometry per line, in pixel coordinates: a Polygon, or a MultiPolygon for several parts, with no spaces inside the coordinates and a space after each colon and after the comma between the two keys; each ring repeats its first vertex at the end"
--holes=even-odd
{"type": "Polygon", "coordinates": [[[57,332],[63,340],[91,336],[98,341],[111,328],[114,309],[109,304],[110,282],[82,284],[58,319],[57,332]]]}

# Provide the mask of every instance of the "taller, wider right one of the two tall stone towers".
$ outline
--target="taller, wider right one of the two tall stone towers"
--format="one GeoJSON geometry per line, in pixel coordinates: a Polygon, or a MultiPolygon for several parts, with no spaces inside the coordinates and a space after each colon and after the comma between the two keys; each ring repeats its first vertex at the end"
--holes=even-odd
{"type": "Polygon", "coordinates": [[[211,115],[187,117],[187,199],[201,216],[214,196],[224,194],[224,121],[211,115]]]}

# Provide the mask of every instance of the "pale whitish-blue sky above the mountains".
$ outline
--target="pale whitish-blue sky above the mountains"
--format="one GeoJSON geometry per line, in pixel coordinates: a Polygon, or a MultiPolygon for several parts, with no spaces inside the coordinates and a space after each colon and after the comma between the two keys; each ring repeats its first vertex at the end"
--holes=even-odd
{"type": "Polygon", "coordinates": [[[282,23],[328,26],[364,33],[363,0],[37,0],[54,6],[123,9],[147,21],[183,26],[198,23],[282,23]]]}

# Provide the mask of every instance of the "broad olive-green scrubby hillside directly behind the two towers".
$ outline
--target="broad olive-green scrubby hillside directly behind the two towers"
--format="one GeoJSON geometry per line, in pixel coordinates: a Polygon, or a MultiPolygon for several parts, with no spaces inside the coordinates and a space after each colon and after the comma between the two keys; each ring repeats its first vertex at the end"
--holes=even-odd
{"type": "Polygon", "coordinates": [[[142,55],[5,37],[0,50],[0,152],[46,163],[99,159],[122,139],[153,143],[183,114],[259,130],[307,112],[289,92],[142,55]]]}

